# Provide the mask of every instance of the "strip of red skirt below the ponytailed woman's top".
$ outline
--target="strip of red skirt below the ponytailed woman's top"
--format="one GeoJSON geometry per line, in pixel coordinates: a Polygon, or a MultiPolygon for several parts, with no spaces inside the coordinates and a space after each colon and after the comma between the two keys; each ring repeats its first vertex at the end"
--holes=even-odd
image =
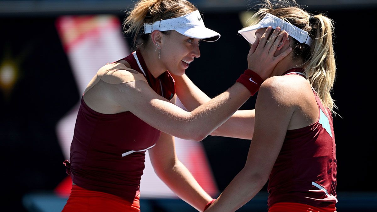
{"type": "Polygon", "coordinates": [[[329,207],[314,207],[301,203],[276,203],[268,209],[268,212],[336,212],[335,204],[329,207]]]}

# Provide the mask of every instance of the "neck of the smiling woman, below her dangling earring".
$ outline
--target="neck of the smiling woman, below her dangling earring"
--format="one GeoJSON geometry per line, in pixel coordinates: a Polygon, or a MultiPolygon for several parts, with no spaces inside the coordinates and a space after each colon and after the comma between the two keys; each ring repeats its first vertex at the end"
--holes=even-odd
{"type": "Polygon", "coordinates": [[[154,78],[159,77],[159,75],[166,71],[166,68],[162,64],[161,60],[158,58],[158,49],[155,52],[154,50],[151,50],[149,46],[146,46],[146,48],[140,49],[139,52],[141,53],[141,55],[143,55],[145,64],[147,65],[147,69],[153,75],[154,78]]]}

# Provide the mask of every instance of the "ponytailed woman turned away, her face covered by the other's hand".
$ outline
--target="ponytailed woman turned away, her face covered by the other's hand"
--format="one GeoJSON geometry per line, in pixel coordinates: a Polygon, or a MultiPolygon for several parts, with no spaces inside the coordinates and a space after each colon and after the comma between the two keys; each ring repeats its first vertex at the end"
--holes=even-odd
{"type": "MultiPolygon", "coordinates": [[[[330,95],[336,71],[333,21],[283,0],[264,1],[254,17],[255,25],[239,31],[250,43],[261,38],[267,26],[281,26],[290,37],[279,51],[293,51],[262,84],[255,110],[237,111],[211,134],[252,141],[242,171],[205,211],[235,211],[269,180],[271,212],[334,212],[338,200],[335,105],[330,95]]],[[[186,108],[210,100],[187,76],[175,80],[186,108]]]]}

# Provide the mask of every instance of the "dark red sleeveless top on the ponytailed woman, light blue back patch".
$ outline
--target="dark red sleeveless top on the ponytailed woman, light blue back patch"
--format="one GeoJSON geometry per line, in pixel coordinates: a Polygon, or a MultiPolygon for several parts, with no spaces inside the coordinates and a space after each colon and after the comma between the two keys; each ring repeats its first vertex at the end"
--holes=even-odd
{"type": "MultiPolygon", "coordinates": [[[[305,77],[302,71],[290,69],[284,75],[305,77]]],[[[304,128],[287,130],[268,182],[268,207],[281,202],[329,207],[338,201],[333,118],[314,89],[313,94],[319,118],[304,128]]]]}

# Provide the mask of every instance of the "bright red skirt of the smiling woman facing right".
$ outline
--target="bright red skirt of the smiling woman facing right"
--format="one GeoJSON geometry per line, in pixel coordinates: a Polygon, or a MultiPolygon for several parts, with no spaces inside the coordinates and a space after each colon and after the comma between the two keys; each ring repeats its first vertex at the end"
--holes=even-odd
{"type": "Polygon", "coordinates": [[[139,212],[140,195],[133,199],[133,203],[122,199],[121,197],[86,190],[77,185],[72,185],[72,190],[62,212],[139,212]]]}

